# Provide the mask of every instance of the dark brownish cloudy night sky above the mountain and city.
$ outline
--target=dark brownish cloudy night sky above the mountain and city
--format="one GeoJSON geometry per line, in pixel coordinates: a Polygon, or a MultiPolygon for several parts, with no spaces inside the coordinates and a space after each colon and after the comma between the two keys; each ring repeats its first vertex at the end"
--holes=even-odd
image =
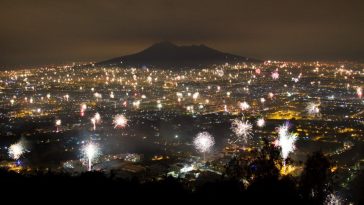
{"type": "Polygon", "coordinates": [[[364,60],[363,0],[0,0],[0,65],[98,61],[162,40],[261,59],[364,60]]]}

